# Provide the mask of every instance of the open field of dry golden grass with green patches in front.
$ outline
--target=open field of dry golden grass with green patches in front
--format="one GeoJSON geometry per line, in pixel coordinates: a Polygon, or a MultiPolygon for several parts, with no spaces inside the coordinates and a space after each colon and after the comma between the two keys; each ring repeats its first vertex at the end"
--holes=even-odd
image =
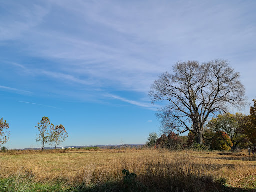
{"type": "Polygon", "coordinates": [[[0,153],[0,191],[256,191],[245,152],[59,151],[0,153]]]}

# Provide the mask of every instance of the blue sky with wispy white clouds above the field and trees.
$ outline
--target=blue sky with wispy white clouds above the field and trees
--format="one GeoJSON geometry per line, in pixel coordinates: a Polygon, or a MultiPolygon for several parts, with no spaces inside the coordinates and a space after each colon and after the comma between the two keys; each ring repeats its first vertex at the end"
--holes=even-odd
{"type": "MultiPolygon", "coordinates": [[[[0,116],[8,148],[143,144],[159,131],[150,85],[177,61],[227,59],[255,99],[256,1],[0,0],[0,116]]],[[[242,111],[248,114],[249,106],[242,111]]]]}

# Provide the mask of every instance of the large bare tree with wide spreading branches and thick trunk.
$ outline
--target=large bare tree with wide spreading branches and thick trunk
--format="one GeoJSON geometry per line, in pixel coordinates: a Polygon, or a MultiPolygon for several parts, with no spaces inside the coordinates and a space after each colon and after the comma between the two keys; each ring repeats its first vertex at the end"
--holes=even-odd
{"type": "Polygon", "coordinates": [[[239,73],[226,60],[207,63],[177,62],[172,73],[165,72],[151,86],[152,103],[166,101],[157,115],[165,132],[195,133],[202,144],[203,126],[210,116],[246,104],[239,73]]]}

